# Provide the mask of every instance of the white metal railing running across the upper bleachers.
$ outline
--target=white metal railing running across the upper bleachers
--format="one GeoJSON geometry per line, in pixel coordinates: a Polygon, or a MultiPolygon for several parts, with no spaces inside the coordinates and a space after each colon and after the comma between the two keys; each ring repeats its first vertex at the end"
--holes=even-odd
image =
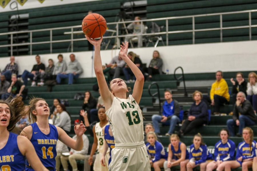
{"type": "MultiPolygon", "coordinates": [[[[175,33],[185,33],[185,32],[192,32],[192,43],[195,43],[195,32],[200,32],[200,31],[213,31],[213,30],[220,30],[220,42],[222,42],[222,30],[228,30],[228,29],[237,29],[237,28],[249,28],[249,40],[252,39],[252,27],[257,27],[257,25],[252,25],[252,19],[251,19],[251,13],[257,12],[257,10],[246,10],[246,11],[234,11],[234,12],[225,12],[225,13],[212,13],[212,14],[200,14],[200,15],[188,15],[188,16],[179,16],[179,17],[164,17],[164,18],[156,18],[156,19],[145,19],[145,20],[140,20],[141,24],[143,22],[147,21],[166,21],[166,31],[163,32],[156,32],[156,33],[141,33],[138,35],[142,36],[149,36],[149,35],[160,35],[160,34],[166,34],[166,46],[168,46],[168,34],[175,34],[175,33]],[[239,13],[248,13],[248,20],[249,24],[244,25],[244,26],[234,26],[234,27],[223,27],[222,26],[222,16],[223,15],[229,15],[229,14],[239,14],[239,13]],[[207,17],[207,16],[220,16],[220,27],[217,28],[204,28],[204,29],[195,29],[195,18],[197,17],[207,17]],[[168,30],[168,21],[173,20],[173,19],[185,19],[185,18],[192,18],[192,29],[191,30],[178,30],[178,31],[169,31],[168,30]]],[[[124,24],[124,23],[132,23],[132,22],[138,22],[138,21],[120,21],[120,22],[113,22],[113,23],[107,23],[107,25],[116,25],[116,31],[110,30],[113,33],[116,33],[116,35],[112,36],[104,36],[103,38],[116,38],[117,40],[121,37],[126,37],[126,36],[135,36],[133,34],[128,34],[128,35],[119,35],[119,24],[124,24]]],[[[52,53],[52,44],[57,43],[57,42],[71,42],[71,52],[73,52],[73,42],[74,41],[82,41],[85,40],[85,38],[77,38],[74,39],[73,35],[77,34],[76,31],[74,31],[74,28],[81,28],[81,25],[77,26],[70,26],[70,27],[58,27],[58,28],[46,28],[46,29],[37,29],[37,30],[24,30],[24,31],[15,31],[15,32],[6,32],[6,33],[0,33],[1,35],[6,35],[10,34],[11,35],[11,44],[7,45],[0,45],[1,47],[11,47],[11,55],[13,55],[13,46],[24,46],[24,45],[29,45],[30,46],[30,54],[32,54],[32,45],[33,44],[46,44],[50,43],[50,53],[52,53]],[[65,40],[53,40],[53,30],[61,30],[61,29],[71,29],[71,39],[65,39],[65,40]],[[50,40],[49,41],[43,41],[43,42],[33,42],[33,37],[32,33],[33,32],[42,32],[42,31],[50,31],[50,40]],[[17,43],[13,44],[13,34],[19,34],[19,33],[29,33],[29,38],[30,42],[27,43],[17,43]]],[[[82,31],[81,31],[82,32],[82,31]]],[[[68,33],[69,34],[69,33],[68,33]]],[[[117,46],[118,47],[118,46],[117,46]]]]}

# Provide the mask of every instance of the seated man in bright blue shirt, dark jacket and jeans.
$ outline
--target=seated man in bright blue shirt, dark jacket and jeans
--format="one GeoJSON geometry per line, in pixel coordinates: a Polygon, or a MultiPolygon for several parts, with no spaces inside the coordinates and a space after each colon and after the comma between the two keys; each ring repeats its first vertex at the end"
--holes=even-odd
{"type": "Polygon", "coordinates": [[[170,90],[164,92],[164,98],[166,101],[162,105],[162,116],[152,115],[152,123],[155,133],[160,133],[160,122],[170,124],[170,129],[168,133],[165,134],[166,136],[170,136],[174,132],[176,124],[181,122],[179,119],[180,106],[178,101],[172,99],[170,90]]]}

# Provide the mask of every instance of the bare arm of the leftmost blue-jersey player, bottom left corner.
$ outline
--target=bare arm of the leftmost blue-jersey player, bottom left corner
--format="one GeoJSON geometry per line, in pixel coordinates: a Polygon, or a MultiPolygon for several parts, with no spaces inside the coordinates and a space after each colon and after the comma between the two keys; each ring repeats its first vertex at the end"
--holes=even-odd
{"type": "Polygon", "coordinates": [[[22,155],[26,156],[27,160],[31,164],[31,167],[35,171],[49,171],[45,166],[42,164],[40,159],[37,156],[34,146],[32,143],[24,136],[17,137],[17,144],[18,148],[22,155]]]}

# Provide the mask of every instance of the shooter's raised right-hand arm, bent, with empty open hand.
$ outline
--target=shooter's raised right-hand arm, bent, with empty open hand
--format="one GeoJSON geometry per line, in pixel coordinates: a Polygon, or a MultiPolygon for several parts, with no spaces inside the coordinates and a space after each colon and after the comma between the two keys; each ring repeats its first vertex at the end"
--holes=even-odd
{"type": "Polygon", "coordinates": [[[120,54],[122,59],[128,64],[129,68],[132,70],[133,74],[136,77],[136,82],[134,84],[132,96],[139,104],[142,96],[142,92],[143,92],[144,75],[139,70],[139,68],[128,58],[127,53],[128,53],[128,42],[127,41],[125,43],[122,42],[120,54]]]}

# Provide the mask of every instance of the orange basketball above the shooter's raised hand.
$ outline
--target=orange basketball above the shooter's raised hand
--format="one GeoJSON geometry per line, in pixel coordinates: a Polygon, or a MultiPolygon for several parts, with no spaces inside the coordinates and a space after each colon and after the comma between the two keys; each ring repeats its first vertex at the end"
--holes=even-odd
{"type": "Polygon", "coordinates": [[[107,24],[105,18],[97,13],[87,15],[82,21],[82,30],[90,38],[98,38],[105,34],[107,24]]]}

